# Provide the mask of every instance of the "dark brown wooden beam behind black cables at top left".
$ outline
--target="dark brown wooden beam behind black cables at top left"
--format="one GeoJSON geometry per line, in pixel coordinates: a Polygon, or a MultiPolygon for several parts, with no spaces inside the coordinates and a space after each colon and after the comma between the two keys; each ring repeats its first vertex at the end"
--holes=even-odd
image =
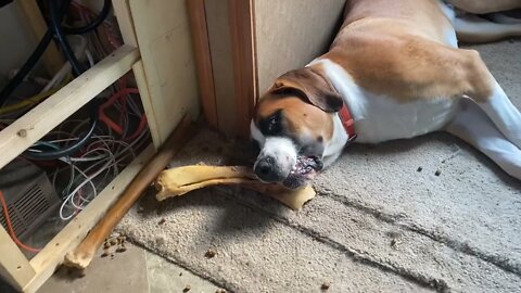
{"type": "MultiPolygon", "coordinates": [[[[26,21],[35,35],[35,39],[39,42],[43,38],[43,35],[46,35],[48,27],[46,21],[41,16],[38,3],[36,0],[20,0],[15,2],[20,3],[20,8],[24,12],[26,21]]],[[[43,53],[42,60],[50,76],[58,73],[65,63],[63,55],[52,41],[43,53]]]]}

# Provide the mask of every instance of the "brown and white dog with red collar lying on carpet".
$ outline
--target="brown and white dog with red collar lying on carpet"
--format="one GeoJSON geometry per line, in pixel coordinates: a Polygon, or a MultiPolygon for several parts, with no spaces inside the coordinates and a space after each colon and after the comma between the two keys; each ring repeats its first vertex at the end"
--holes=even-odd
{"type": "Polygon", "coordinates": [[[456,17],[521,8],[520,0],[351,0],[330,50],[280,76],[256,105],[254,169],[298,188],[353,141],[447,131],[521,179],[521,114],[479,53],[458,49],[521,36],[521,24],[456,17]]]}

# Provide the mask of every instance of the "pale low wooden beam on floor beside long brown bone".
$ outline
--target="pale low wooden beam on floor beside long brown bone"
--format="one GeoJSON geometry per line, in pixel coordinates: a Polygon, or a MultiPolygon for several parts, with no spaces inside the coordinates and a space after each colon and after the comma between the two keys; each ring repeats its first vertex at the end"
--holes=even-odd
{"type": "Polygon", "coordinates": [[[24,288],[24,292],[36,292],[52,276],[56,267],[63,263],[65,254],[81,242],[153,154],[154,148],[149,145],[81,213],[47,243],[40,253],[30,259],[36,277],[24,288]]]}

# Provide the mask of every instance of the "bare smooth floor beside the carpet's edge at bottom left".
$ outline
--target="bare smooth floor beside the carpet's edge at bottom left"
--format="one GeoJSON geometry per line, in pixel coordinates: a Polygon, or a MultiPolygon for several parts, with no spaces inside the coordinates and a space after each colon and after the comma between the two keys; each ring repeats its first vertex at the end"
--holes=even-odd
{"type": "MultiPolygon", "coordinates": [[[[127,244],[127,251],[114,257],[96,257],[85,275],[60,268],[38,293],[214,293],[219,288],[165,258],[139,246],[127,244]]],[[[0,292],[15,293],[3,288],[0,292]]]]}

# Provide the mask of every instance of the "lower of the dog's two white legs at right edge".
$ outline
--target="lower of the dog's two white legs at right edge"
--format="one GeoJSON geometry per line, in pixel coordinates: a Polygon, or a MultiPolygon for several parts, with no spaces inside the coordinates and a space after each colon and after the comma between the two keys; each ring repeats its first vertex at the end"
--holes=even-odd
{"type": "Polygon", "coordinates": [[[510,176],[521,180],[521,150],[510,142],[470,99],[460,101],[460,109],[445,130],[487,155],[510,176]]]}

